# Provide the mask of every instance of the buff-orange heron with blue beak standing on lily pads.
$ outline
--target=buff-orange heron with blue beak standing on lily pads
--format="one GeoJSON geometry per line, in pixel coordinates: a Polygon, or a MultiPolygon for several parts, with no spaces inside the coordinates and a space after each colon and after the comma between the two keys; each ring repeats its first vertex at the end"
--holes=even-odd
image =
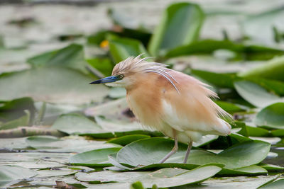
{"type": "Polygon", "coordinates": [[[138,121],[175,140],[173,149],[159,163],[175,154],[178,142],[183,142],[188,144],[186,164],[192,142],[206,134],[231,133],[231,125],[225,121],[232,119],[231,115],[214,103],[217,93],[209,85],[148,58],[129,57],[114,66],[111,76],[90,84],[126,88],[126,101],[138,121]]]}

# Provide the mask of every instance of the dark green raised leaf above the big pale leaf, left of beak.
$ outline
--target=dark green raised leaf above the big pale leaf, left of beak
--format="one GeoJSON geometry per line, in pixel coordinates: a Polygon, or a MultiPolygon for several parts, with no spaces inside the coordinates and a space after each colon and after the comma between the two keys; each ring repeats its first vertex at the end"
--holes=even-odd
{"type": "Polygon", "coordinates": [[[27,60],[33,67],[58,66],[78,69],[87,74],[82,45],[72,44],[60,50],[45,52],[27,60]]]}

